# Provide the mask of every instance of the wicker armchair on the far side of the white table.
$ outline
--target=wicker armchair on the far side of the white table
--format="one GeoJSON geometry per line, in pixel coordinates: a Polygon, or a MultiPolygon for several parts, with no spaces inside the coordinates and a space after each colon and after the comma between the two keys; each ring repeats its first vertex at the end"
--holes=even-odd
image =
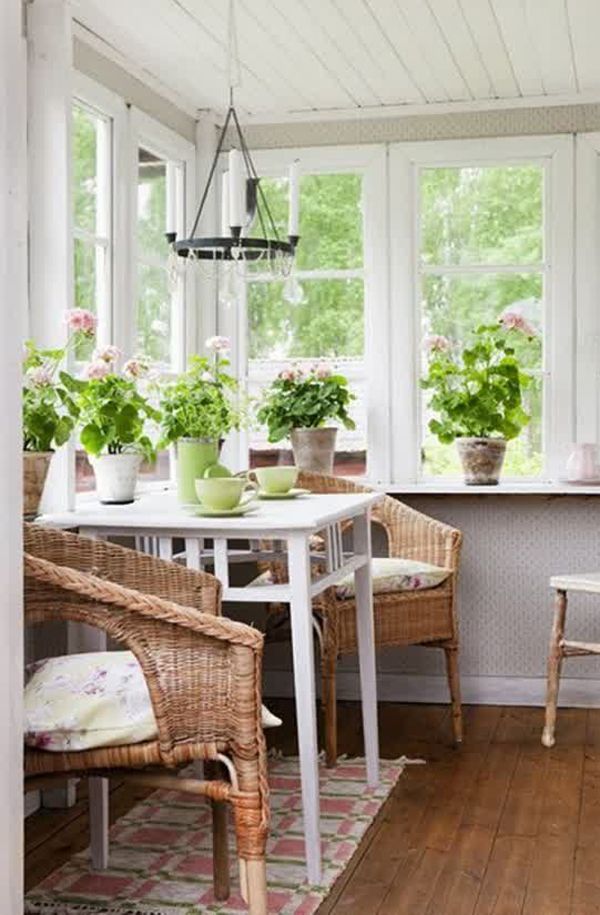
{"type": "MultiPolygon", "coordinates": [[[[365,492],[342,477],[302,472],[298,486],[317,493],[365,492]]],[[[436,588],[402,591],[374,596],[375,644],[378,648],[424,645],[443,649],[452,704],[454,739],[462,740],[462,709],[458,674],[458,625],[456,617],[456,578],[462,534],[440,521],[385,496],[373,509],[373,522],[387,536],[391,557],[419,559],[452,570],[452,575],[436,588]]],[[[281,570],[273,569],[275,575],[281,570]]],[[[281,610],[273,605],[273,610],[281,610]]],[[[313,610],[322,638],[322,704],[325,718],[325,755],[328,766],[337,759],[336,667],[339,657],[356,654],[356,608],[353,599],[341,600],[335,588],[315,599],[313,610]]]]}

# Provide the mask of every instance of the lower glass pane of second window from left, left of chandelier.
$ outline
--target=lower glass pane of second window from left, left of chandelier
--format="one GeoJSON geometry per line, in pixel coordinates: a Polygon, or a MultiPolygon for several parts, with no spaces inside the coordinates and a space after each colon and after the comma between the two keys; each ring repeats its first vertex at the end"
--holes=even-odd
{"type": "Polygon", "coordinates": [[[159,365],[171,363],[171,294],[163,267],[138,266],[136,351],[159,365]]]}

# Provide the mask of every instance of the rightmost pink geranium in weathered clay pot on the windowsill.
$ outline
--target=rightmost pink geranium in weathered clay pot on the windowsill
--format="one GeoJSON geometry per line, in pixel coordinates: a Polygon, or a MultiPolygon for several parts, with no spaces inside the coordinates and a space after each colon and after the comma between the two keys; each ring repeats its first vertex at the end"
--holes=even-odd
{"type": "Polygon", "coordinates": [[[421,386],[432,392],[429,407],[437,414],[429,429],[444,444],[456,441],[467,485],[498,483],[507,441],[530,420],[522,392],[533,375],[520,365],[517,334],[528,342],[536,336],[522,315],[506,311],[497,324],[479,326],[462,352],[446,337],[426,340],[421,386]]]}

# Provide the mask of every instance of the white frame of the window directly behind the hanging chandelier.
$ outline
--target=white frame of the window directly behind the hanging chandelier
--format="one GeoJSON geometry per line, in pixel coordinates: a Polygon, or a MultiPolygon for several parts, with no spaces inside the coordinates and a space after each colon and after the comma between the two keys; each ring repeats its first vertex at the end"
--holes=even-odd
{"type": "MultiPolygon", "coordinates": [[[[363,257],[362,268],[352,271],[319,270],[319,279],[335,279],[353,273],[364,281],[365,370],[367,391],[367,476],[390,479],[389,468],[389,313],[387,268],[387,157],[382,145],[358,147],[297,147],[258,150],[252,157],[261,177],[285,176],[298,159],[300,175],[354,173],[362,176],[363,257]]],[[[224,171],[227,165],[223,163],[224,171]]],[[[219,179],[219,189],[221,180],[219,179]]],[[[220,212],[220,208],[219,208],[220,212]]],[[[302,244],[300,238],[299,244],[302,244]]],[[[310,276],[311,271],[299,273],[310,276]]],[[[317,274],[315,274],[316,276],[317,274]]],[[[239,307],[218,306],[219,333],[232,339],[232,363],[239,378],[247,377],[247,309],[245,283],[240,283],[239,307]]],[[[240,468],[248,466],[248,436],[240,433],[228,457],[240,468]]]]}

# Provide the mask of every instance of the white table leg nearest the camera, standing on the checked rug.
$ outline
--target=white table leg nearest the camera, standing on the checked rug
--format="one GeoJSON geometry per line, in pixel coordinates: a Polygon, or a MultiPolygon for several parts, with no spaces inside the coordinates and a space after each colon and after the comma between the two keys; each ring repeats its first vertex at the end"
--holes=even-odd
{"type": "Polygon", "coordinates": [[[315,694],[315,662],[310,594],[310,555],[305,535],[288,541],[290,616],[294,658],[294,692],[298,722],[298,749],[302,781],[302,811],[308,882],[321,881],[319,824],[319,764],[315,694]]]}

